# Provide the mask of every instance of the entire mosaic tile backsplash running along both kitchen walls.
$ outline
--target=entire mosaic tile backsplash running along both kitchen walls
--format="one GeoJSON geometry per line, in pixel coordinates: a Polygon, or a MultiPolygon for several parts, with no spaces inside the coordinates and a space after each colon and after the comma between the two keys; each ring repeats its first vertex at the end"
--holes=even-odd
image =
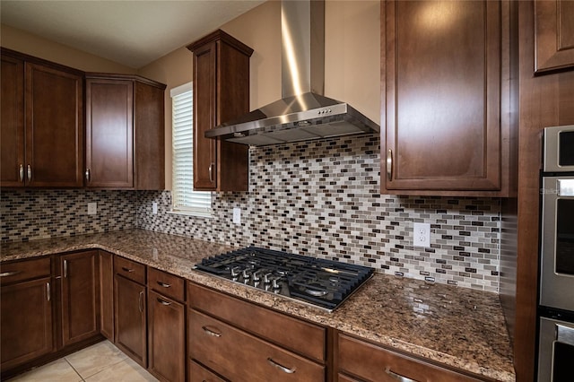
{"type": "Polygon", "coordinates": [[[170,213],[169,191],[3,190],[2,240],[137,227],[499,290],[500,199],[379,195],[377,135],[252,147],[249,156],[249,191],[213,193],[211,218],[170,213]],[[431,247],[413,246],[413,222],[431,223],[431,247]]]}

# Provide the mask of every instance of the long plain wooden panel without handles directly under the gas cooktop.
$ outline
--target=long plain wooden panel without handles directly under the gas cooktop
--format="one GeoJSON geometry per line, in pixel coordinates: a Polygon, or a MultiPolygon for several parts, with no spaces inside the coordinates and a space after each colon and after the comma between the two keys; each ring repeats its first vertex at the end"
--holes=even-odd
{"type": "Polygon", "coordinates": [[[311,359],[325,360],[326,329],[189,282],[190,306],[311,359]],[[213,304],[217,301],[217,304],[213,304]]]}

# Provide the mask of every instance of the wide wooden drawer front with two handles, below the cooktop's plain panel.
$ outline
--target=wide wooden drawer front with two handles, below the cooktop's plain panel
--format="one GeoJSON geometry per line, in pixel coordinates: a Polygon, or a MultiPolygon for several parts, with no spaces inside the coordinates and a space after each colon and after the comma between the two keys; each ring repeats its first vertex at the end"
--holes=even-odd
{"type": "Polygon", "coordinates": [[[188,328],[190,357],[232,381],[325,380],[323,366],[196,310],[188,328]]]}

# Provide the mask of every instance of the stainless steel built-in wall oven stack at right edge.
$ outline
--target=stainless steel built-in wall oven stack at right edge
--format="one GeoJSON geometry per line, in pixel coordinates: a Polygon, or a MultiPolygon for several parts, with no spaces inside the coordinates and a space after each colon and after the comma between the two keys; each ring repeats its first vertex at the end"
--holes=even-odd
{"type": "Polygon", "coordinates": [[[574,126],[544,129],[538,381],[574,380],[574,126]]]}

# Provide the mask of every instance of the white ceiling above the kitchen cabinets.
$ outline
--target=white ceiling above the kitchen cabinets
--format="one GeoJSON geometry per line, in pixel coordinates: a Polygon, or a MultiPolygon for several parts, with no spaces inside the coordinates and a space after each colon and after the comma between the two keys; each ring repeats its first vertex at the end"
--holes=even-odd
{"type": "Polygon", "coordinates": [[[265,0],[0,0],[2,23],[136,69],[265,0]]]}

